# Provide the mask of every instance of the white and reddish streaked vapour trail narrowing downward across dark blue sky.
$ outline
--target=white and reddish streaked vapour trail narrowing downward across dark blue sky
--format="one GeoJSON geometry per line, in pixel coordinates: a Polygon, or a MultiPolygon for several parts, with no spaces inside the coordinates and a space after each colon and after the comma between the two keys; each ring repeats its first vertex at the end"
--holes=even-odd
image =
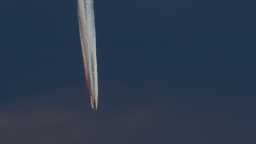
{"type": "Polygon", "coordinates": [[[80,39],[84,57],[86,85],[92,109],[98,105],[98,76],[96,59],[96,34],[93,0],[77,0],[80,39]]]}

